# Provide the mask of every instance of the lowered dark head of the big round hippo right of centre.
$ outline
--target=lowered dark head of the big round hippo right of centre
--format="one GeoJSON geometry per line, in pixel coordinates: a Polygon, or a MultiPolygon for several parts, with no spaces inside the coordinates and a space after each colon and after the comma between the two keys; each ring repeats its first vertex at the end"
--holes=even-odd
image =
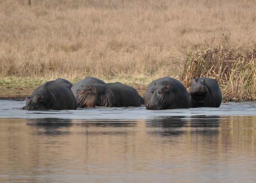
{"type": "Polygon", "coordinates": [[[169,82],[159,84],[156,90],[152,90],[153,97],[146,104],[146,109],[165,109],[174,102],[176,92],[176,87],[172,86],[169,82]]]}

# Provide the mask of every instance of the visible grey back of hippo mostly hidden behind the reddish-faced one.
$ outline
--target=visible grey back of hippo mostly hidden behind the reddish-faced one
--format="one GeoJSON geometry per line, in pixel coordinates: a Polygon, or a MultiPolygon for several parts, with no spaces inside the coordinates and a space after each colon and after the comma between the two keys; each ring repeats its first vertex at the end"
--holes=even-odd
{"type": "MultiPolygon", "coordinates": [[[[77,93],[79,93],[79,91],[81,90],[81,88],[83,86],[87,86],[88,84],[105,84],[104,81],[95,78],[95,77],[85,77],[84,79],[76,82],[72,87],[71,90],[75,96],[75,98],[77,98],[77,93]]],[[[78,103],[77,103],[78,104],[78,103]]]]}

